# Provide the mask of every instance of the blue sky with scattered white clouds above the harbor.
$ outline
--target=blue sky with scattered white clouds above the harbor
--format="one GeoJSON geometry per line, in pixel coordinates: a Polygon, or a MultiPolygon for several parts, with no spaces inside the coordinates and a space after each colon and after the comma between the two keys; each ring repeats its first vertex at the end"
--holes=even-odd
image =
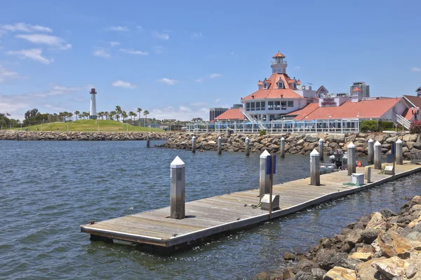
{"type": "Polygon", "coordinates": [[[371,96],[421,86],[420,1],[4,1],[0,113],[148,110],[208,120],[269,78],[371,96]]]}

